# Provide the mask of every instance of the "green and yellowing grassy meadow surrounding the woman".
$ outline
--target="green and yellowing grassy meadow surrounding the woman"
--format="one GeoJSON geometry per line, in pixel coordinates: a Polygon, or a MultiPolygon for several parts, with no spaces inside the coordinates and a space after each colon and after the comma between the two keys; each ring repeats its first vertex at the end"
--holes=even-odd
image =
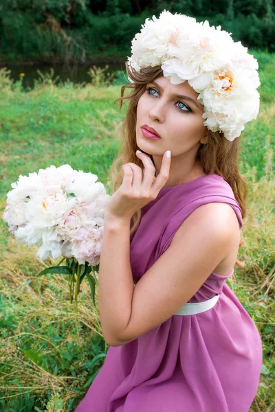
{"type": "MultiPolygon", "coordinates": [[[[249,182],[248,216],[239,251],[244,268],[227,279],[250,313],[263,340],[263,367],[251,412],[275,411],[274,343],[274,134],[275,55],[254,53],[259,60],[261,112],[241,137],[241,172],[249,182]]],[[[108,346],[102,339],[98,306],[83,282],[78,313],[69,304],[63,275],[37,277],[46,266],[19,244],[3,221],[5,198],[19,174],[51,164],[69,163],[76,170],[96,172],[106,185],[118,152],[120,85],[92,83],[56,86],[41,78],[32,91],[22,81],[12,84],[0,71],[0,411],[74,411],[94,380],[108,346]]],[[[97,295],[96,295],[97,298],[97,295]]],[[[97,299],[96,299],[97,301],[97,299]]]]}

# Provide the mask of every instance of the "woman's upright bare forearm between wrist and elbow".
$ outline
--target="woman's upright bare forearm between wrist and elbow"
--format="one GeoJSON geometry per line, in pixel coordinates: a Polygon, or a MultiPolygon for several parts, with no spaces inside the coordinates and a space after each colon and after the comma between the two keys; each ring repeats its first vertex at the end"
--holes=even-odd
{"type": "Polygon", "coordinates": [[[130,264],[130,221],[104,218],[98,275],[98,304],[107,343],[119,339],[131,317],[133,277],[130,264]]]}

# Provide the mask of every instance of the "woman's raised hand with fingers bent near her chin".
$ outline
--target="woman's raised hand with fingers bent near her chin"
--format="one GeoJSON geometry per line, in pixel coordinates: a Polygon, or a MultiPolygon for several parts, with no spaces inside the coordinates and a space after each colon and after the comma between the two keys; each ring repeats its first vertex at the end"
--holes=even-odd
{"type": "Polygon", "coordinates": [[[162,157],[162,167],[157,177],[151,158],[142,152],[136,152],[136,155],[144,164],[143,180],[142,169],[135,163],[122,165],[122,185],[107,201],[104,220],[111,218],[129,222],[137,210],[157,197],[159,190],[168,181],[171,158],[167,157],[166,152],[162,157]]]}

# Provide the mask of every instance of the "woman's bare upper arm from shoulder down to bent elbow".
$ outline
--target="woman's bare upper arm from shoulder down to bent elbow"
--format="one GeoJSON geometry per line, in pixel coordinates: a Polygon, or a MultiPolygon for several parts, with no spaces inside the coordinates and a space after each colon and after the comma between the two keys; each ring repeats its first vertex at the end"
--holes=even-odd
{"type": "Polygon", "coordinates": [[[239,236],[232,207],[208,203],[181,223],[168,249],[135,285],[123,345],[170,318],[199,290],[239,236]]]}

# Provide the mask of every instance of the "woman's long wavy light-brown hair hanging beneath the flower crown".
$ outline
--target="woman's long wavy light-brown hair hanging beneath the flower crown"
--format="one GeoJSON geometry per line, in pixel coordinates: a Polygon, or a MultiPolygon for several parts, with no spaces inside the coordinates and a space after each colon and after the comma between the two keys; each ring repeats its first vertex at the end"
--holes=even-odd
{"type": "MultiPolygon", "coordinates": [[[[140,166],[142,170],[144,169],[142,161],[135,155],[136,150],[139,149],[135,137],[137,103],[146,90],[146,85],[156,78],[163,76],[163,71],[160,66],[146,67],[140,72],[133,69],[129,71],[127,63],[125,66],[126,73],[133,82],[122,86],[120,98],[115,100],[115,102],[120,102],[120,109],[122,108],[124,100],[129,100],[129,107],[122,124],[120,150],[109,172],[111,173],[111,181],[113,181],[113,192],[118,190],[118,187],[122,184],[122,165],[124,163],[135,163],[140,166]],[[124,95],[125,89],[131,89],[131,92],[128,95],[124,95]]],[[[223,136],[223,133],[219,131],[214,133],[208,129],[207,144],[201,144],[199,147],[197,151],[197,161],[201,163],[205,174],[217,173],[232,187],[236,201],[241,207],[241,216],[244,218],[246,213],[246,199],[248,196],[248,183],[246,183],[239,172],[239,150],[239,138],[234,139],[234,141],[228,141],[228,139],[225,139],[223,136]]],[[[151,157],[153,161],[152,155],[148,154],[148,156],[151,157]]],[[[141,210],[139,209],[132,217],[133,226],[131,227],[130,234],[140,225],[140,218],[141,210]]],[[[240,245],[242,244],[243,241],[241,240],[240,245]]],[[[236,260],[236,264],[237,266],[244,266],[239,260],[236,260]]]]}

